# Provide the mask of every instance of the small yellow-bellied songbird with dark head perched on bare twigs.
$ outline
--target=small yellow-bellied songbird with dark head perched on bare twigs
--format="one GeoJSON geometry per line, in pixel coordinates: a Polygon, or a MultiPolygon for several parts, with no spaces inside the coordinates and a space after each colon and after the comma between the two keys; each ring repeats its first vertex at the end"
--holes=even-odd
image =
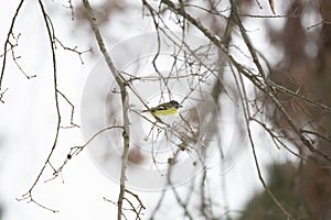
{"type": "Polygon", "coordinates": [[[178,101],[175,100],[171,100],[169,102],[166,103],[161,103],[157,107],[147,109],[142,112],[149,112],[151,113],[157,120],[160,120],[160,117],[167,117],[167,116],[173,116],[177,114],[177,110],[179,108],[182,108],[183,106],[181,106],[178,101]]]}

